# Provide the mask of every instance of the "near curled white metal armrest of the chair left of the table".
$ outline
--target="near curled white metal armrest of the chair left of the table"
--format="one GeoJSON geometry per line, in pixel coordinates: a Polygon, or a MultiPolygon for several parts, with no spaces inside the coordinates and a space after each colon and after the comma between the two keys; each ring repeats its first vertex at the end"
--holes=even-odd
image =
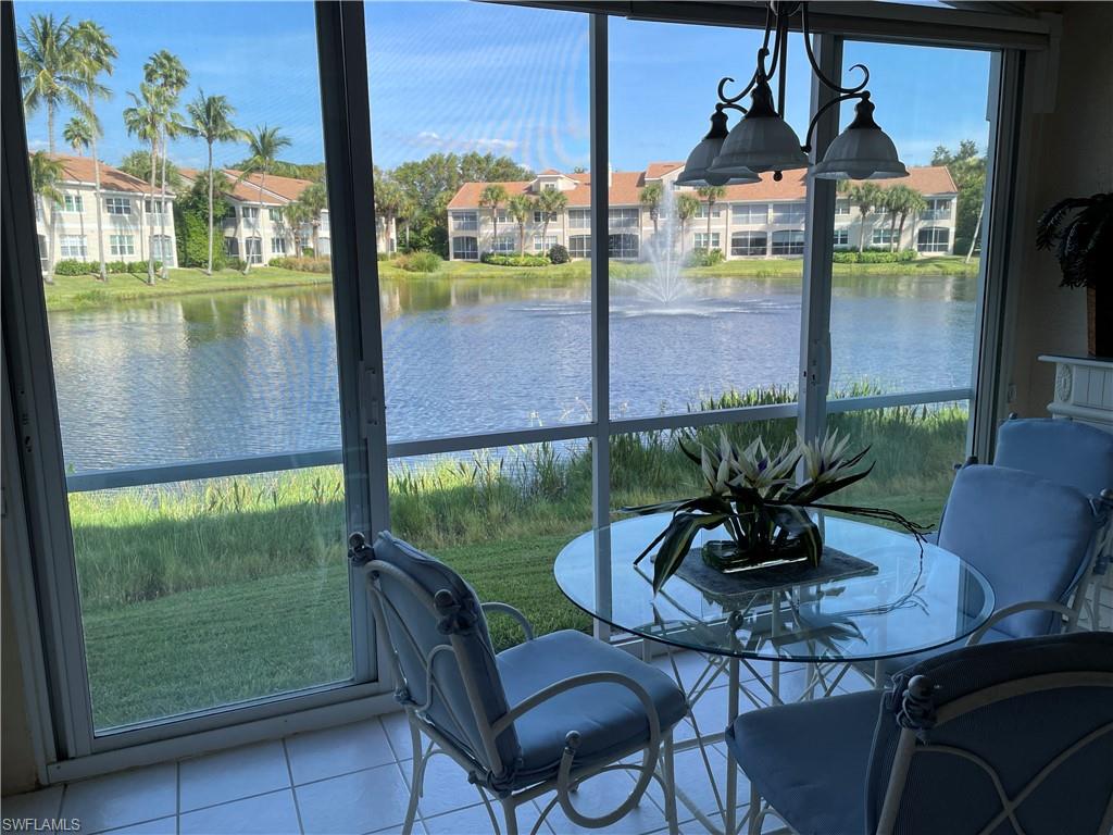
{"type": "Polygon", "coordinates": [[[499,719],[491,726],[491,730],[494,736],[498,737],[499,734],[510,727],[511,724],[539,705],[549,701],[563,692],[574,690],[578,687],[587,687],[589,685],[598,684],[621,685],[638,697],[642,707],[646,708],[646,718],[649,719],[649,743],[647,744],[646,754],[642,756],[641,760],[641,775],[634,784],[633,789],[627,796],[626,800],[604,815],[589,817],[581,814],[572,805],[571,798],[572,788],[577,785],[577,783],[579,783],[579,779],[572,777],[572,760],[575,758],[577,748],[580,746],[580,734],[573,729],[570,730],[564,737],[564,754],[561,756],[560,768],[556,772],[556,799],[560,803],[561,809],[563,809],[564,814],[572,823],[588,828],[610,826],[611,824],[614,824],[626,817],[630,811],[641,802],[642,796],[646,794],[646,789],[649,787],[650,780],[653,778],[657,770],[657,758],[661,748],[661,720],[657,713],[657,705],[653,704],[653,699],[650,697],[649,691],[634,679],[629,676],[623,676],[621,672],[611,672],[608,670],[600,670],[599,672],[583,672],[579,676],[570,676],[569,678],[556,681],[555,684],[549,685],[549,687],[543,687],[532,696],[528,696],[514,705],[514,707],[512,707],[503,716],[499,717],[499,719]]]}

